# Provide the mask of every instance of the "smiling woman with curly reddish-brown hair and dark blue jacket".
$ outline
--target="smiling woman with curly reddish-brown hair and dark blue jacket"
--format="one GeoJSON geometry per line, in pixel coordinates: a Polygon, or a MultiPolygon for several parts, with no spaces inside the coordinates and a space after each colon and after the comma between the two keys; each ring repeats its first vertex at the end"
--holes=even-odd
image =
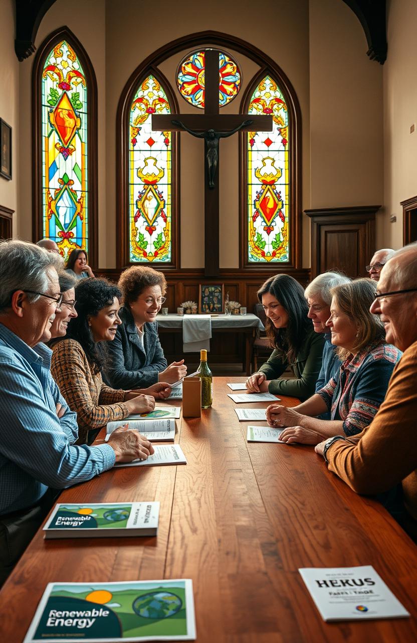
{"type": "Polygon", "coordinates": [[[108,345],[106,381],[112,386],[135,388],[155,382],[173,384],[187,374],[184,360],[167,366],[158,338],[157,313],[165,301],[164,273],[146,266],[132,266],[119,279],[124,306],[122,324],[108,345]]]}

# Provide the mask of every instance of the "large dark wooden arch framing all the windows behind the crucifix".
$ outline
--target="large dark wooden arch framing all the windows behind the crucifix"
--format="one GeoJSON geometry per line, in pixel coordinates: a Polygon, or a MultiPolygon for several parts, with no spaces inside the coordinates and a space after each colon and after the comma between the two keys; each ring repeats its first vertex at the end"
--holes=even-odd
{"type": "MultiPolygon", "coordinates": [[[[237,51],[246,58],[253,60],[257,65],[260,66],[260,71],[257,73],[255,78],[260,77],[262,74],[266,73],[266,70],[269,70],[271,76],[277,80],[278,86],[282,91],[282,94],[285,97],[287,102],[287,108],[289,110],[289,117],[291,120],[291,130],[290,134],[293,137],[292,140],[293,150],[291,151],[291,168],[290,168],[290,180],[291,180],[291,204],[290,204],[290,224],[292,226],[291,237],[290,237],[290,247],[289,247],[289,257],[290,261],[285,262],[285,264],[273,264],[273,269],[277,272],[287,271],[288,269],[300,269],[301,268],[301,196],[302,196],[302,186],[301,186],[301,143],[302,143],[302,123],[301,123],[301,110],[298,103],[298,98],[294,91],[291,82],[286,77],[284,71],[278,67],[273,59],[267,56],[263,51],[259,50],[257,47],[250,44],[250,42],[243,41],[240,38],[237,38],[233,35],[229,35],[221,32],[214,31],[205,31],[191,33],[189,35],[178,38],[174,41],[168,42],[166,45],[162,46],[156,51],[153,51],[146,60],[144,60],[136,69],[133,71],[128,82],[124,86],[124,89],[121,93],[119,100],[119,105],[117,108],[117,117],[116,117],[116,190],[117,190],[117,203],[116,203],[116,253],[117,253],[117,267],[121,268],[123,266],[129,265],[128,258],[128,211],[129,211],[129,196],[128,196],[128,161],[129,161],[129,152],[128,152],[128,127],[129,127],[129,117],[130,117],[130,105],[132,105],[133,96],[137,91],[139,83],[152,73],[161,82],[164,90],[167,92],[168,100],[171,105],[178,110],[178,102],[176,100],[176,95],[171,89],[171,84],[164,78],[162,73],[158,69],[164,60],[170,58],[176,53],[187,48],[197,48],[201,46],[210,46],[215,45],[219,48],[232,49],[237,51]],[[168,92],[167,90],[171,91],[168,92]],[[171,100],[173,102],[171,103],[171,100]]],[[[249,87],[253,87],[255,79],[249,84],[249,87]]],[[[241,102],[241,109],[244,108],[245,102],[248,103],[250,100],[248,89],[246,90],[243,101],[241,102]]],[[[179,110],[178,110],[179,111],[179,110]]],[[[248,269],[250,273],[260,274],[260,278],[264,275],[267,275],[271,272],[271,264],[260,264],[256,266],[255,264],[248,264],[247,257],[245,259],[246,245],[244,241],[244,226],[246,224],[246,209],[244,205],[244,199],[246,199],[246,184],[244,183],[243,176],[246,176],[246,168],[244,167],[244,136],[245,134],[239,133],[239,170],[241,176],[241,183],[239,188],[239,269],[244,270],[248,269]],[[244,172],[244,174],[243,174],[244,172]],[[264,273],[262,275],[261,273],[264,273]]],[[[173,164],[175,163],[176,171],[173,172],[173,260],[171,264],[164,264],[164,266],[169,269],[180,268],[180,167],[178,163],[179,159],[179,149],[180,149],[180,136],[176,132],[173,134],[173,164]]],[[[174,165],[173,165],[174,167],[174,165]]],[[[247,237],[247,233],[246,233],[247,237]]],[[[162,264],[153,265],[162,266],[162,264]]]]}

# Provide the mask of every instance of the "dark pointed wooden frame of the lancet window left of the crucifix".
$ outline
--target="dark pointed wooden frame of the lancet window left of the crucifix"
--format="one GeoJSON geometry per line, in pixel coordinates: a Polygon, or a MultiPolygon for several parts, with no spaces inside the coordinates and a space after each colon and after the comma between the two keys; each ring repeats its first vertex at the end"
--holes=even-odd
{"type": "MultiPolygon", "coordinates": [[[[130,222],[130,197],[129,197],[129,132],[130,132],[130,109],[137,88],[144,82],[149,75],[152,75],[164,92],[166,93],[171,112],[178,113],[178,101],[174,95],[169,80],[155,66],[146,64],[140,65],[133,72],[128,82],[123,88],[119,106],[117,108],[117,125],[116,125],[116,189],[117,189],[117,212],[116,212],[116,244],[117,244],[117,267],[133,266],[130,262],[129,251],[129,222],[130,222]]],[[[171,138],[171,230],[172,246],[171,261],[157,262],[149,264],[155,268],[175,269],[180,267],[180,225],[179,225],[179,141],[178,134],[173,132],[171,138]]]]}

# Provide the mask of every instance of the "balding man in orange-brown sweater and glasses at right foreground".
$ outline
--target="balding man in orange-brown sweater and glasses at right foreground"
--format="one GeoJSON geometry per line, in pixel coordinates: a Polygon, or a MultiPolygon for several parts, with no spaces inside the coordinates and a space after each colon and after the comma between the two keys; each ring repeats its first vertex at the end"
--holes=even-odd
{"type": "Polygon", "coordinates": [[[316,446],[330,471],[353,491],[379,494],[402,482],[406,518],[417,534],[417,243],[398,250],[382,268],[371,312],[380,315],[386,340],[404,352],[371,424],[355,437],[332,437],[316,446]]]}

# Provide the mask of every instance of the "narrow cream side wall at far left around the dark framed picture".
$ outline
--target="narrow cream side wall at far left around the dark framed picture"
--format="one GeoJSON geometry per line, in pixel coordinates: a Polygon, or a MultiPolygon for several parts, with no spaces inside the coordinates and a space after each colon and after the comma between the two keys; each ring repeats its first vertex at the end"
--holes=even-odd
{"type": "Polygon", "coordinates": [[[13,0],[0,2],[0,118],[12,127],[12,180],[0,176],[0,205],[15,210],[13,235],[19,222],[19,62],[15,54],[15,17],[13,0]]]}

